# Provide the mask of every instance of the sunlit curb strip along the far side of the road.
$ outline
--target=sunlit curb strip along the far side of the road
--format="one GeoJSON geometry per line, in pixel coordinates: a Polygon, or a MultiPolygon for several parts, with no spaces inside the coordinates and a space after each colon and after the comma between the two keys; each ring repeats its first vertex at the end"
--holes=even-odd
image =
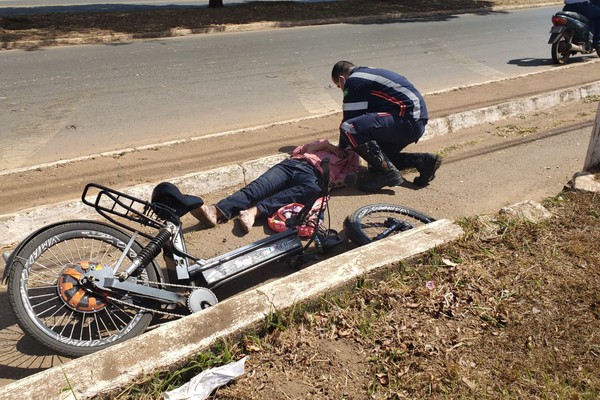
{"type": "Polygon", "coordinates": [[[444,15],[454,14],[472,14],[481,12],[498,12],[520,10],[526,8],[538,8],[548,6],[559,6],[562,1],[551,1],[539,4],[515,5],[504,7],[492,7],[489,10],[481,8],[467,8],[462,10],[452,11],[431,11],[420,13],[389,13],[375,16],[347,17],[347,18],[323,18],[303,21],[277,21],[277,22],[255,22],[248,24],[231,24],[231,25],[210,25],[203,28],[171,28],[165,31],[144,32],[144,33],[111,33],[107,35],[93,35],[71,38],[57,38],[52,40],[27,40],[14,42],[0,42],[0,50],[27,49],[33,47],[49,46],[49,45],[78,45],[78,44],[98,44],[98,43],[114,43],[114,42],[131,42],[134,40],[144,39],[159,39],[169,37],[181,37],[198,34],[212,33],[233,33],[233,32],[250,32],[266,29],[294,28],[302,26],[314,25],[329,25],[329,24],[367,24],[380,22],[393,22],[411,18],[430,18],[444,15]]]}

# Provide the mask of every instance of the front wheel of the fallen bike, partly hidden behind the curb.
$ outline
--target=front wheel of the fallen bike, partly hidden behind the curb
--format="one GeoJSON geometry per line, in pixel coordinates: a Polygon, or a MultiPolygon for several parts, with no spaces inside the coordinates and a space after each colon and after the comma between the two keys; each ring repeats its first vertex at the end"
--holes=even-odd
{"type": "MultiPolygon", "coordinates": [[[[435,221],[419,211],[395,204],[369,204],[360,207],[344,220],[346,236],[354,244],[363,246],[383,237],[378,237],[389,228],[389,221],[401,221],[401,231],[435,221]],[[388,226],[386,226],[388,223],[388,226]]],[[[396,234],[389,232],[384,237],[396,234]]]]}

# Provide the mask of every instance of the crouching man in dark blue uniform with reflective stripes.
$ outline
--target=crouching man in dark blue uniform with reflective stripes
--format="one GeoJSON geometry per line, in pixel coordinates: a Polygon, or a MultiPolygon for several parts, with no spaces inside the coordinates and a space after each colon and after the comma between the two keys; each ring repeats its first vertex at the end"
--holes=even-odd
{"type": "Polygon", "coordinates": [[[403,182],[399,170],[406,168],[416,168],[420,175],[414,183],[426,186],[435,177],[441,158],[401,152],[425,132],[427,106],[419,91],[402,75],[349,61],[338,61],[331,79],[344,93],[339,146],[352,148],[374,172],[359,178],[358,189],[375,192],[398,186],[403,182]]]}

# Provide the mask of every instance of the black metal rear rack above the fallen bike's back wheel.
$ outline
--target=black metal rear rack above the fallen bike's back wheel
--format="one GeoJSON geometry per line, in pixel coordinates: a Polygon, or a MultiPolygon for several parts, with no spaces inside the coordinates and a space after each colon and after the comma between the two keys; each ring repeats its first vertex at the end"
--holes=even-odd
{"type": "MultiPolygon", "coordinates": [[[[93,207],[98,214],[110,222],[130,231],[138,230],[117,218],[136,222],[142,226],[161,229],[166,226],[166,219],[161,218],[159,214],[173,215],[173,210],[169,210],[168,207],[162,204],[152,204],[96,183],[88,183],[85,186],[81,201],[83,204],[93,207]],[[88,193],[93,194],[91,192],[94,190],[98,190],[95,200],[89,201],[86,197],[88,197],[88,193]]],[[[148,239],[154,237],[144,232],[139,233],[148,239]]]]}

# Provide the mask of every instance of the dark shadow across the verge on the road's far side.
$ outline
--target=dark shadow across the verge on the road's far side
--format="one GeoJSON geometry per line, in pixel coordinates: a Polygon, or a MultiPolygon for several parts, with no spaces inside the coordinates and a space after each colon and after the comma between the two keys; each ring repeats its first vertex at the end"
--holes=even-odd
{"type": "Polygon", "coordinates": [[[406,22],[443,21],[453,12],[468,10],[488,13],[504,4],[538,4],[542,0],[461,0],[452,2],[414,2],[412,0],[340,0],[326,2],[249,1],[225,4],[223,8],[206,6],[156,6],[89,4],[81,6],[44,6],[0,8],[0,41],[51,41],[77,34],[140,34],[207,27],[275,22],[280,26],[294,23],[319,24],[344,20],[346,23],[382,23],[400,14],[428,13],[406,22]],[[434,15],[429,15],[433,13],[434,15]],[[439,14],[436,14],[439,13],[439,14]],[[352,20],[356,18],[356,20],[352,20]],[[350,19],[350,20],[349,20],[350,19]]]}

